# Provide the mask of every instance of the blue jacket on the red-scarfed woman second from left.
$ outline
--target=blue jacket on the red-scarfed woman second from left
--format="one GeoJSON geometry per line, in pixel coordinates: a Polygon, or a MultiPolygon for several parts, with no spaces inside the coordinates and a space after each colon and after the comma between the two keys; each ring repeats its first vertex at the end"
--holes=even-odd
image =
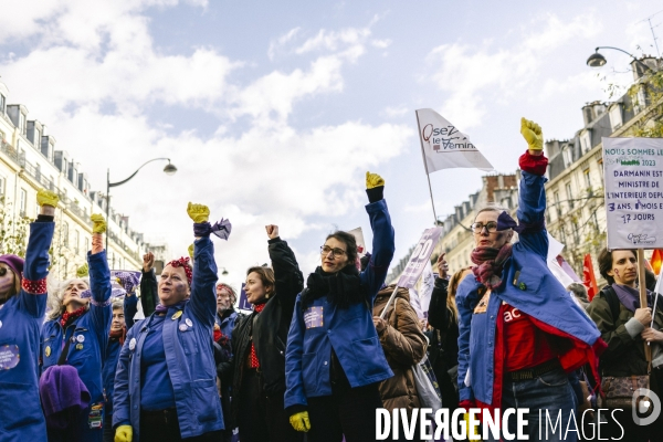
{"type": "MultiPolygon", "coordinates": [[[[72,339],[66,364],[76,368],[78,377],[90,391],[91,400],[87,407],[90,411],[93,406],[104,403],[102,368],[106,357],[113,312],[110,272],[106,251],[96,254],[87,252],[87,263],[92,292],[90,311],[70,324],[66,330],[62,329],[60,318],[46,322],[41,332],[41,357],[43,372],[46,368],[57,365],[65,339],[72,339]]],[[[86,441],[101,440],[102,430],[91,429],[87,418],[88,412],[81,414],[78,422],[81,434],[84,434],[86,441]]]]}

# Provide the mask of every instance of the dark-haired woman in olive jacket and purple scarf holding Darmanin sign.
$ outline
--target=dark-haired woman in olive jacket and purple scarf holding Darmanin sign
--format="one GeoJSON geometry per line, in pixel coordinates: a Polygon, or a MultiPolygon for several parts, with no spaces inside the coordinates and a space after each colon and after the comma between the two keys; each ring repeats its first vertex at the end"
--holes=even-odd
{"type": "MultiPolygon", "coordinates": [[[[604,381],[606,377],[645,378],[650,373],[650,367],[643,343],[651,343],[651,348],[655,349],[654,360],[652,360],[654,370],[650,376],[651,385],[646,388],[651,388],[663,398],[660,370],[656,369],[663,364],[663,355],[660,350],[663,345],[663,333],[660,332],[663,328],[663,313],[657,307],[655,315],[652,315],[654,303],[652,292],[648,291],[648,306],[640,305],[636,253],[634,250],[603,249],[598,261],[599,272],[609,285],[593,297],[588,313],[601,330],[601,337],[608,343],[608,349],[600,359],[601,376],[604,381]],[[654,316],[653,322],[652,316],[654,316]]],[[[610,403],[604,408],[610,408],[610,403]]],[[[608,424],[607,430],[601,432],[601,436],[617,440],[623,431],[629,441],[633,442],[660,439],[662,418],[659,418],[655,423],[640,425],[633,421],[631,410],[624,408],[604,414],[608,424]]]]}

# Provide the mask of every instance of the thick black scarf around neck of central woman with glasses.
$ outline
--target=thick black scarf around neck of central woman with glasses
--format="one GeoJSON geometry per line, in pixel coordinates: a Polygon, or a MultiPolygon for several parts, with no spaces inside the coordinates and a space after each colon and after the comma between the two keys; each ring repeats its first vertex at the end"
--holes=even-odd
{"type": "Polygon", "coordinates": [[[327,273],[318,266],[306,280],[306,290],[302,293],[302,309],[323,296],[327,296],[339,308],[348,308],[350,304],[364,301],[366,288],[361,285],[357,267],[350,264],[339,272],[327,273]]]}

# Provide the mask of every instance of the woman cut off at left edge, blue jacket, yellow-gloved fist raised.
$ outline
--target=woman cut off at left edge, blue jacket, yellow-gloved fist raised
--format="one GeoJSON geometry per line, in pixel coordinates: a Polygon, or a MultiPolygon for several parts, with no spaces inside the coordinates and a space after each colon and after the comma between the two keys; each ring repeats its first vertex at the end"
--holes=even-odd
{"type": "Polygon", "coordinates": [[[49,249],[57,196],[40,190],[25,261],[0,256],[0,441],[44,441],[39,399],[39,330],[46,311],[49,249]]]}

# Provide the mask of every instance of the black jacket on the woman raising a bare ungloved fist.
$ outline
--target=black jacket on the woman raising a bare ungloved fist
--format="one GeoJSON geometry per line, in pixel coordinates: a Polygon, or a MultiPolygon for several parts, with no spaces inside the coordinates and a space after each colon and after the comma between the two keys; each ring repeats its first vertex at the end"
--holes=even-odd
{"type": "MultiPolygon", "coordinates": [[[[295,299],[304,288],[304,276],[287,242],[275,238],[269,243],[270,259],[276,280],[274,294],[270,296],[261,313],[253,312],[243,317],[232,332],[234,359],[232,391],[240,394],[242,375],[246,368],[252,339],[266,394],[283,394],[285,391],[285,343],[295,299]]],[[[235,394],[231,404],[231,418],[234,423],[238,422],[239,403],[240,400],[235,394]]]]}

